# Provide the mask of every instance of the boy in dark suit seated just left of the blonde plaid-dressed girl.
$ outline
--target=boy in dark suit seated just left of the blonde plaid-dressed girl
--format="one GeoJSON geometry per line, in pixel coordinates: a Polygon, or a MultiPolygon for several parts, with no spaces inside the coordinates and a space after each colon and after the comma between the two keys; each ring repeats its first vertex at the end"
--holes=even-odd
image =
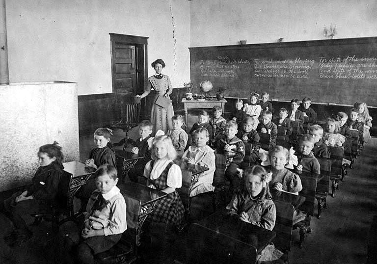
{"type": "Polygon", "coordinates": [[[134,147],[131,149],[131,152],[133,153],[133,158],[144,157],[137,160],[135,166],[127,172],[130,180],[135,183],[138,182],[138,176],[143,177],[145,164],[147,164],[147,162],[152,159],[152,129],[153,124],[151,123],[151,121],[141,121],[138,128],[138,133],[140,137],[133,142],[134,147]]]}

